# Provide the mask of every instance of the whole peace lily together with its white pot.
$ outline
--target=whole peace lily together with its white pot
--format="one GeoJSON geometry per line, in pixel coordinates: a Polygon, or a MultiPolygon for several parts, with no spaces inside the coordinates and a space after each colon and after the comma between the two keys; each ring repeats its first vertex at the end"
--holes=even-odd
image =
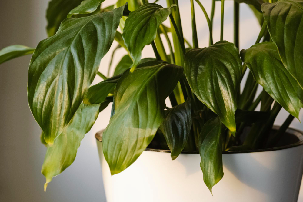
{"type": "Polygon", "coordinates": [[[235,0],[231,43],[223,39],[221,0],[221,40],[214,43],[215,0],[210,16],[195,0],[209,26],[205,48],[198,46],[193,0],[192,46],[182,33],[178,0],[167,0],[167,8],[147,0],[103,8],[103,1],[52,0],[49,38],[36,48],[0,51],[0,63],[33,54],[28,103],[47,146],[44,188],[72,164],[112,102],[110,122],[96,134],[108,202],[297,201],[303,134],[288,126],[303,106],[303,1],[235,0]],[[241,51],[239,3],[249,4],[262,25],[255,45],[241,51]],[[167,18],[170,28],[162,24],[167,18]],[[128,55],[108,78],[98,68],[114,40],[128,55]],[[155,58],[141,58],[149,44],[155,58]],[[90,86],[96,75],[104,81],[90,86]],[[273,126],[281,108],[289,116],[273,126]]]}

